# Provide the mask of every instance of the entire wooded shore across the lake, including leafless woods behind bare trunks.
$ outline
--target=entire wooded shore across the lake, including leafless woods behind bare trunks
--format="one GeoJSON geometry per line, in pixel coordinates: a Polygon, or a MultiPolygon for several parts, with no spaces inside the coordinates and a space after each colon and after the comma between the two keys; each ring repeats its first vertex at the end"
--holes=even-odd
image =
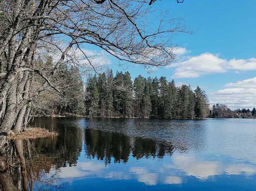
{"type": "Polygon", "coordinates": [[[117,71],[114,76],[112,70],[90,76],[83,85],[75,70],[67,71],[73,85],[61,96],[49,96],[49,92],[38,96],[33,103],[35,114],[165,119],[202,119],[209,115],[208,97],[199,87],[194,91],[190,85],[176,87],[174,80],[165,77],[146,79],[139,75],[132,81],[129,72],[117,71]]]}

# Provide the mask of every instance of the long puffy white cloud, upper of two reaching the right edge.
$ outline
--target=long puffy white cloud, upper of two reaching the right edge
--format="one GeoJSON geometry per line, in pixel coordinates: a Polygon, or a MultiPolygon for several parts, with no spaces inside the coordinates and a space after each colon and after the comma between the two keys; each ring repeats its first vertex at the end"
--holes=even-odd
{"type": "Polygon", "coordinates": [[[178,57],[183,57],[175,64],[168,67],[175,67],[173,78],[198,78],[202,75],[212,73],[225,73],[234,70],[240,71],[256,70],[256,58],[249,59],[223,59],[219,54],[203,53],[197,56],[184,57],[188,53],[185,48],[176,51],[178,57]]]}

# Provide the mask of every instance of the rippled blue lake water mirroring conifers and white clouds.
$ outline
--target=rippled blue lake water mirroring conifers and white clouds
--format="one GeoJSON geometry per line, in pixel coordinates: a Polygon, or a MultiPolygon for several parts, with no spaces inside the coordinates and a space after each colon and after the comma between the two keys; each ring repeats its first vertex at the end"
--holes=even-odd
{"type": "Polygon", "coordinates": [[[31,141],[48,161],[32,168],[34,190],[256,190],[253,119],[34,123],[59,132],[31,141]]]}

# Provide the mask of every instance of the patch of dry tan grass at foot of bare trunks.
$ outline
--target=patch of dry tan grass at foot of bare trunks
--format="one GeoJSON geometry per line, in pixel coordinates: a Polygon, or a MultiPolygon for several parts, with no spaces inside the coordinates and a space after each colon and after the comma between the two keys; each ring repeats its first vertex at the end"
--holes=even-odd
{"type": "Polygon", "coordinates": [[[8,139],[36,139],[40,137],[58,136],[57,132],[50,132],[40,127],[27,127],[24,132],[19,134],[9,133],[8,139]]]}

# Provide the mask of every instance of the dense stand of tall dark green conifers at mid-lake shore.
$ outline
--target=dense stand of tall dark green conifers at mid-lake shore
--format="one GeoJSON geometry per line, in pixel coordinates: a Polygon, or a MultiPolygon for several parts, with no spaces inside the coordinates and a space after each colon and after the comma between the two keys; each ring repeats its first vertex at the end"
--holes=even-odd
{"type": "Polygon", "coordinates": [[[90,77],[85,90],[85,110],[89,117],[189,118],[209,115],[209,101],[198,86],[176,87],[165,77],[134,81],[129,72],[109,70],[90,77]]]}

